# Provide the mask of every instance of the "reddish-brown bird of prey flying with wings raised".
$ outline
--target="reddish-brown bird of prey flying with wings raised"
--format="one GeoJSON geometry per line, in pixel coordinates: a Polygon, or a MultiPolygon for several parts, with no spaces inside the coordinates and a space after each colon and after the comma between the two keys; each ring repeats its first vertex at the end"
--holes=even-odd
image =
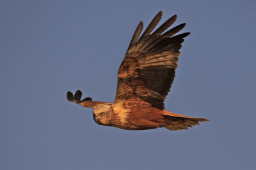
{"type": "Polygon", "coordinates": [[[164,100],[175,77],[179,49],[190,32],[175,35],[184,28],[185,23],[166,31],[175,22],[177,15],[152,32],[162,14],[162,11],[157,13],[143,34],[142,21],[136,28],[118,69],[114,103],[92,101],[90,97],[81,100],[80,90],[74,96],[68,91],[68,101],[93,108],[93,119],[97,124],[125,130],[165,127],[179,131],[198,125],[198,122],[209,121],[164,110],[164,100]]]}

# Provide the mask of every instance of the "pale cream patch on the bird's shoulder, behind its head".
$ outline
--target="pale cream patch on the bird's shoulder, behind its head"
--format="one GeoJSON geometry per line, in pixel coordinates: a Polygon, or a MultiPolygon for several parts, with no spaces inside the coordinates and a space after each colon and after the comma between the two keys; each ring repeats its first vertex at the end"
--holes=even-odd
{"type": "Polygon", "coordinates": [[[117,113],[118,118],[120,118],[121,124],[125,125],[127,124],[127,118],[131,110],[125,109],[123,106],[124,106],[124,102],[119,102],[119,103],[113,104],[112,107],[115,113],[117,113]]]}

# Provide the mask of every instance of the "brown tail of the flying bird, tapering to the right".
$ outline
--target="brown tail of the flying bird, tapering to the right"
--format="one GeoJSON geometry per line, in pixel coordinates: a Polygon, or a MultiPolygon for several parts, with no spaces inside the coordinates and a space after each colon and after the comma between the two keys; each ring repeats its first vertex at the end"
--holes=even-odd
{"type": "Polygon", "coordinates": [[[199,125],[199,122],[210,121],[207,118],[188,117],[185,115],[179,115],[177,113],[172,113],[169,111],[166,111],[164,115],[169,124],[165,126],[165,128],[171,131],[180,131],[182,129],[188,129],[188,127],[199,125]]]}

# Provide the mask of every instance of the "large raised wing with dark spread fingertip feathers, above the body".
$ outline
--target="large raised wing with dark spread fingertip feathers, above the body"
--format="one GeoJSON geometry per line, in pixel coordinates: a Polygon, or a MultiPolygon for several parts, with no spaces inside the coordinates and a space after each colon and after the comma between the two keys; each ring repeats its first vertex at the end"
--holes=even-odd
{"type": "Polygon", "coordinates": [[[150,34],[161,20],[162,14],[162,11],[157,13],[140,39],[138,38],[143,29],[143,22],[140,22],[134,32],[118,70],[115,103],[127,100],[146,101],[155,108],[164,109],[163,102],[175,77],[181,43],[190,33],[173,36],[183,29],[185,24],[164,32],[175,22],[177,15],[174,15],[150,34]]]}

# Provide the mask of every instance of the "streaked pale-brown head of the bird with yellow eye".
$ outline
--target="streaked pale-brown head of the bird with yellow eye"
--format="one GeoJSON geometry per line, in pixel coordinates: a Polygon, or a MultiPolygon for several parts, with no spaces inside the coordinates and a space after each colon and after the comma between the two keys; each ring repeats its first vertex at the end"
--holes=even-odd
{"type": "Polygon", "coordinates": [[[93,119],[99,125],[111,125],[111,117],[113,116],[112,103],[97,104],[93,110],[93,119]]]}

